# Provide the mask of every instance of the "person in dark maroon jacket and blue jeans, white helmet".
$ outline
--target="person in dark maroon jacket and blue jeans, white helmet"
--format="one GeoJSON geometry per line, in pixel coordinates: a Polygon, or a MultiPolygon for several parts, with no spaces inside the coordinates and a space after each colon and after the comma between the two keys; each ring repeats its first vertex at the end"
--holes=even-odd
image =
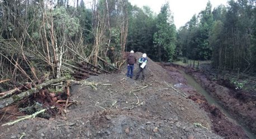
{"type": "Polygon", "coordinates": [[[134,56],[134,51],[131,50],[129,56],[126,59],[127,63],[127,77],[132,78],[133,73],[134,73],[134,64],[137,62],[135,56],[134,56]]]}

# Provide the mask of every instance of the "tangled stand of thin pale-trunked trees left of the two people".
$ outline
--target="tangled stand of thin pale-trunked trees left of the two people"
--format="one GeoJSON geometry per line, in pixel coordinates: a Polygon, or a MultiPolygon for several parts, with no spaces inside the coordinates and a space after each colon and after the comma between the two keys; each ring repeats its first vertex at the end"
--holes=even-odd
{"type": "Polygon", "coordinates": [[[127,0],[68,3],[0,1],[0,80],[10,80],[0,90],[69,76],[82,62],[92,71],[110,71],[123,63],[131,4],[127,0]]]}

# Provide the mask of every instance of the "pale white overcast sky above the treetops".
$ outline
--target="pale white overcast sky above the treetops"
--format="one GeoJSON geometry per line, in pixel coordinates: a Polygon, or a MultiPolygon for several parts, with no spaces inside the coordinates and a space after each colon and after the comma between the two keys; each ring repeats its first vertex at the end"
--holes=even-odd
{"type": "MultiPolygon", "coordinates": [[[[129,0],[132,5],[136,4],[138,7],[149,6],[155,13],[159,13],[161,6],[167,1],[169,1],[177,29],[185,25],[193,15],[198,15],[205,9],[208,2],[208,0],[129,0]]],[[[227,4],[227,0],[210,0],[210,2],[212,8],[227,4]]]]}

